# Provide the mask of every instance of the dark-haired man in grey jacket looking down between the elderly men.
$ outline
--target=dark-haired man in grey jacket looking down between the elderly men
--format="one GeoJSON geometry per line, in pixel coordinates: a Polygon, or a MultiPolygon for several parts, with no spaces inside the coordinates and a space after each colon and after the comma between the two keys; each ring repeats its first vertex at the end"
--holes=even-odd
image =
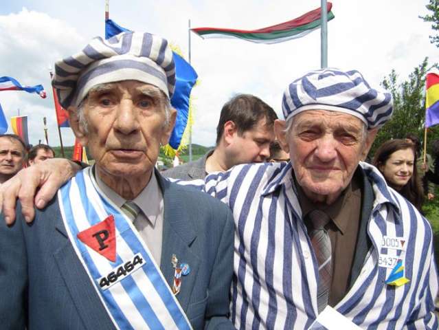
{"type": "Polygon", "coordinates": [[[274,110],[256,96],[239,94],[221,109],[216,127],[216,147],[194,162],[170,168],[163,174],[174,179],[204,179],[238,164],[265,162],[274,140],[274,110]]]}

